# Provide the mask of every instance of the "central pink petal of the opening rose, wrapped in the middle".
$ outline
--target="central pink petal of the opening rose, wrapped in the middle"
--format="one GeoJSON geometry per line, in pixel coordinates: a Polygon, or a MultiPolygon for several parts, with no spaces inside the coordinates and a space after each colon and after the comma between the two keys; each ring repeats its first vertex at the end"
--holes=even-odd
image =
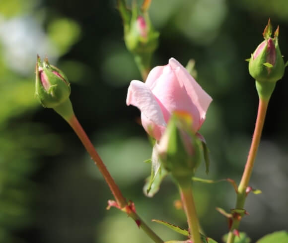
{"type": "Polygon", "coordinates": [[[158,101],[166,122],[170,119],[172,112],[185,111],[193,117],[194,131],[200,128],[199,111],[169,65],[164,67],[152,93],[158,101]]]}

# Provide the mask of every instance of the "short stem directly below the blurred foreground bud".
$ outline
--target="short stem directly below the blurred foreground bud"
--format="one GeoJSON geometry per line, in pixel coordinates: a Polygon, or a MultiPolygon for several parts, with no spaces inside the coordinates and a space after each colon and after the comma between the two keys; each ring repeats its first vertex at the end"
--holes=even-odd
{"type": "Polygon", "coordinates": [[[179,190],[181,199],[183,202],[184,210],[188,220],[188,226],[190,230],[191,239],[193,243],[201,243],[201,238],[199,234],[199,222],[197,218],[197,212],[195,208],[194,198],[192,194],[191,181],[180,183],[179,190]]]}

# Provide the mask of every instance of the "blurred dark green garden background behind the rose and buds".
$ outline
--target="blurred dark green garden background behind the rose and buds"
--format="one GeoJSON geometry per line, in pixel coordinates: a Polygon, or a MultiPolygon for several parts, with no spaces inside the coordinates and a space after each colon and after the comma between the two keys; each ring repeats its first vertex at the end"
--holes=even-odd
{"type": "MultiPolygon", "coordinates": [[[[140,1],[141,2],[141,1],[140,1]]],[[[116,209],[90,157],[69,125],[34,98],[36,54],[61,68],[72,83],[79,121],[116,182],[164,240],[183,239],[161,219],[186,228],[173,207],[176,186],[165,179],[153,198],[142,192],[151,147],[125,104],[127,87],[140,79],[126,50],[114,0],[0,0],[0,242],[149,243],[136,224],[116,209]]],[[[271,17],[280,25],[280,47],[288,55],[286,0],[153,0],[150,17],[160,32],[154,65],[170,57],[196,60],[198,82],[213,97],[201,128],[211,150],[211,172],[197,176],[239,182],[254,129],[258,98],[248,63],[271,17]]],[[[286,59],[286,57],[285,57],[286,59]]],[[[287,59],[286,59],[287,60],[287,59]]],[[[271,99],[241,230],[255,242],[287,227],[287,75],[271,99]]],[[[235,193],[226,182],[195,182],[206,234],[220,242],[235,193]]]]}

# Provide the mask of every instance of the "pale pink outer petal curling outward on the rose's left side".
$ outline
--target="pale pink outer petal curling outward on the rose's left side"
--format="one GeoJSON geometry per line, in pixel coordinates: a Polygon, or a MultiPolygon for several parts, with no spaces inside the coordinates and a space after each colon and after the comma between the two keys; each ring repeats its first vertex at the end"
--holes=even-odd
{"type": "Polygon", "coordinates": [[[160,106],[145,83],[138,80],[131,81],[126,104],[139,108],[144,129],[156,139],[160,139],[166,122],[160,106]]]}

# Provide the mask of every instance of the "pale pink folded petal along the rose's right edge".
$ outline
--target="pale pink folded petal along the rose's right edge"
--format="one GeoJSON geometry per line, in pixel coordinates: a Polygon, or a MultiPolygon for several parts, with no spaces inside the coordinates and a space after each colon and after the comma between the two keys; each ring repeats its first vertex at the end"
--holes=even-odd
{"type": "Polygon", "coordinates": [[[212,98],[201,88],[195,79],[188,73],[186,68],[184,68],[177,60],[171,58],[169,60],[169,65],[172,70],[175,70],[178,80],[183,83],[193,104],[197,107],[201,117],[200,125],[202,125],[205,121],[206,112],[212,102],[212,98]]]}

